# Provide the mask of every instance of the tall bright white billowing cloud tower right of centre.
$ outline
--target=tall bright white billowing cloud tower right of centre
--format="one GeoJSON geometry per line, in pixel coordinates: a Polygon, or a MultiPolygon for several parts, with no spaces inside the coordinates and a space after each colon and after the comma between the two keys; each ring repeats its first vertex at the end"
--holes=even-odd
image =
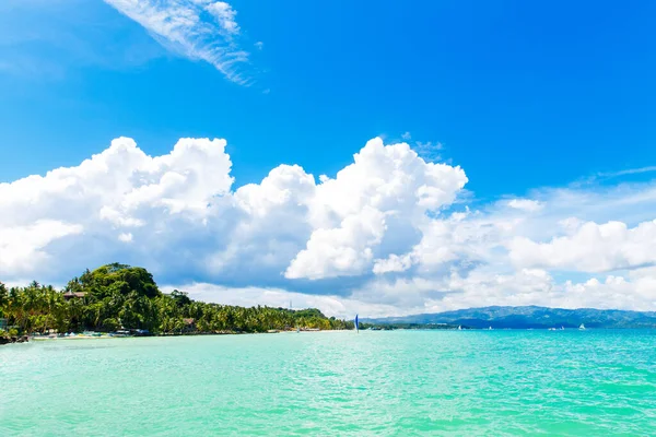
{"type": "Polygon", "coordinates": [[[315,231],[285,276],[323,279],[371,271],[390,222],[397,224],[396,233],[417,228],[426,212],[450,204],[466,182],[459,167],[426,163],[406,143],[385,146],[380,139],[370,141],[353,164],[317,187],[311,205],[315,231]]]}

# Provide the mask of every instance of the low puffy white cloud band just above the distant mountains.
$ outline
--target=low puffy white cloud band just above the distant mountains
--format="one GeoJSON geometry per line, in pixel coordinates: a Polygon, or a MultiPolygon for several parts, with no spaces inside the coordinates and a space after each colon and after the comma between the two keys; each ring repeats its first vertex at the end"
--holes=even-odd
{"type": "Polygon", "coordinates": [[[386,316],[495,305],[654,310],[655,274],[653,268],[645,268],[628,275],[610,274],[561,283],[542,269],[520,269],[504,274],[479,268],[466,274],[452,272],[435,279],[414,275],[387,281],[379,277],[349,298],[361,303],[365,311],[367,304],[376,305],[372,311],[386,311],[386,316]]]}

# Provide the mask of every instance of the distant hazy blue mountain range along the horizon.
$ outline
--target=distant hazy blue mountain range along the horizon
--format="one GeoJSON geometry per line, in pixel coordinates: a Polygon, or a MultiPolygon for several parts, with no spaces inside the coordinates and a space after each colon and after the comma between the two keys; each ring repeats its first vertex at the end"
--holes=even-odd
{"type": "Polygon", "coordinates": [[[437,314],[421,314],[382,319],[363,319],[363,322],[397,326],[453,324],[462,328],[528,329],[528,328],[656,328],[656,312],[624,311],[619,309],[562,309],[537,306],[482,307],[437,314]]]}

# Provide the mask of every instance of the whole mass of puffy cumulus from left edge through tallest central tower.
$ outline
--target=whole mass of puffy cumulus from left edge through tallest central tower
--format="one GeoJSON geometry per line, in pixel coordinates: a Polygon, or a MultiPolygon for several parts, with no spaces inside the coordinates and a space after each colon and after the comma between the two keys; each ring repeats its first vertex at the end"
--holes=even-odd
{"type": "MultiPolygon", "coordinates": [[[[68,246],[92,261],[127,253],[204,277],[253,269],[261,282],[319,280],[371,272],[374,258],[399,248],[389,232],[411,233],[467,181],[458,167],[425,163],[407,144],[380,139],[318,184],[302,167],[281,165],[233,190],[231,166],[224,140],[181,139],[152,157],[119,138],[78,167],[0,185],[0,223],[14,231],[73,226],[65,229],[84,235],[68,246]],[[127,251],[126,243],[136,245],[127,251]]],[[[52,232],[34,250],[69,234],[52,232]]]]}

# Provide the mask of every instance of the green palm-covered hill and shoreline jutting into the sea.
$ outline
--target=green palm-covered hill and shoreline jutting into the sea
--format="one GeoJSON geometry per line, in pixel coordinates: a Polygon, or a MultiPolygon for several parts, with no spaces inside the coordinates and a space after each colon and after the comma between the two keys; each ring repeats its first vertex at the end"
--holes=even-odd
{"type": "Polygon", "coordinates": [[[59,291],[37,282],[8,288],[0,282],[0,319],[22,333],[148,330],[151,333],[266,332],[294,327],[352,329],[318,309],[207,304],[180,291],[165,294],[145,269],[119,263],[86,270],[59,291]]]}

